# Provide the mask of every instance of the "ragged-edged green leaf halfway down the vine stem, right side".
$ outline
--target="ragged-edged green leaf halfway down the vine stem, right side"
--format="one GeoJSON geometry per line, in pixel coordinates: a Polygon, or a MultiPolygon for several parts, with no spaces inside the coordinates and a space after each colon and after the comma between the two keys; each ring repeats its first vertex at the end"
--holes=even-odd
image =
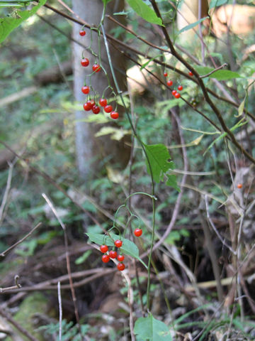
{"type": "MultiPolygon", "coordinates": [[[[164,181],[164,175],[167,176],[168,180],[166,181],[166,185],[174,187],[175,189],[179,187],[176,183],[175,175],[166,174],[169,169],[174,169],[175,165],[173,161],[169,161],[171,156],[169,155],[169,151],[167,150],[164,144],[144,144],[145,151],[147,153],[147,157],[149,158],[149,164],[152,168],[152,176],[156,183],[160,181],[164,181]]],[[[149,164],[147,163],[147,172],[151,174],[149,164]]]]}

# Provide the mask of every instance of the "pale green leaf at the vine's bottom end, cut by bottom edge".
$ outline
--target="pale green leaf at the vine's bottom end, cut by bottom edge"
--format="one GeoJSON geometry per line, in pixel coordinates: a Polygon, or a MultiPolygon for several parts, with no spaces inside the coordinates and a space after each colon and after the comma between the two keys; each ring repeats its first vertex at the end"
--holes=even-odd
{"type": "Polygon", "coordinates": [[[154,318],[152,314],[147,318],[138,318],[135,321],[134,332],[140,340],[172,341],[167,325],[154,318]]]}

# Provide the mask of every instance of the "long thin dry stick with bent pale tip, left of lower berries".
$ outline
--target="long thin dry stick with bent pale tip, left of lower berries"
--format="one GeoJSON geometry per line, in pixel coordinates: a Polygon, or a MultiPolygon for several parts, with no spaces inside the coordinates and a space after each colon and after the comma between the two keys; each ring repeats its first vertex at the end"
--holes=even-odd
{"type": "Polygon", "coordinates": [[[70,266],[69,251],[68,251],[68,241],[67,241],[67,230],[66,230],[66,227],[65,227],[64,223],[62,222],[60,216],[57,214],[57,211],[55,210],[55,207],[52,205],[52,202],[47,197],[47,195],[45,195],[45,193],[42,193],[42,197],[45,199],[47,204],[50,206],[50,209],[54,213],[55,217],[57,218],[57,221],[60,223],[60,226],[62,227],[63,232],[64,232],[64,247],[65,247],[65,250],[66,250],[67,274],[69,275],[69,284],[70,284],[70,289],[71,289],[71,293],[72,293],[72,301],[74,303],[74,314],[75,314],[75,318],[77,320],[79,334],[80,334],[81,340],[82,340],[81,325],[79,323],[79,313],[78,313],[78,308],[77,308],[77,298],[76,298],[75,291],[74,291],[74,283],[72,281],[72,272],[71,272],[71,266],[70,266]]]}

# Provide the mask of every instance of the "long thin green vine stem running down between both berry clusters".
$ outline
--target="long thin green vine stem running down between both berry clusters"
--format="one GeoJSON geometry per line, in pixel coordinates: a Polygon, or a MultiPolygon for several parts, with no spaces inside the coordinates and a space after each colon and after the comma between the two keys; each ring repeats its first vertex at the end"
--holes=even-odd
{"type": "MultiPolygon", "coordinates": [[[[105,15],[105,13],[106,13],[106,5],[104,4],[103,16],[105,15]]],[[[149,311],[149,303],[150,303],[149,302],[150,271],[151,271],[151,262],[152,262],[152,250],[153,250],[154,237],[155,237],[154,178],[153,178],[153,174],[152,174],[152,166],[151,166],[151,164],[149,162],[149,157],[147,155],[147,152],[146,152],[146,149],[145,149],[145,145],[143,144],[142,140],[140,139],[140,136],[137,134],[137,131],[135,130],[135,126],[132,123],[132,119],[131,119],[130,114],[128,112],[128,108],[125,105],[125,101],[123,99],[122,92],[120,91],[120,87],[118,85],[118,81],[117,81],[117,78],[115,76],[115,71],[114,71],[114,68],[113,68],[112,60],[111,60],[111,53],[110,53],[110,50],[109,50],[108,40],[106,38],[106,31],[105,31],[104,26],[103,26],[103,19],[104,19],[103,16],[102,16],[102,19],[101,19],[101,23],[98,26],[98,29],[101,27],[101,30],[102,30],[102,33],[103,33],[103,41],[104,41],[104,44],[105,44],[105,47],[106,47],[106,54],[107,54],[108,63],[109,63],[110,70],[111,70],[111,75],[113,76],[113,82],[115,84],[115,88],[117,90],[118,95],[120,96],[120,100],[121,100],[121,102],[123,104],[123,107],[125,109],[125,114],[128,117],[128,121],[130,123],[132,132],[133,132],[135,138],[137,139],[137,141],[140,143],[143,152],[145,153],[145,157],[147,159],[147,163],[148,163],[148,166],[149,166],[149,173],[150,173],[150,177],[151,177],[151,183],[152,183],[152,241],[151,241],[151,245],[150,245],[150,249],[149,249],[149,259],[148,259],[148,269],[147,269],[147,271],[148,271],[148,280],[147,280],[147,310],[149,311]]]]}

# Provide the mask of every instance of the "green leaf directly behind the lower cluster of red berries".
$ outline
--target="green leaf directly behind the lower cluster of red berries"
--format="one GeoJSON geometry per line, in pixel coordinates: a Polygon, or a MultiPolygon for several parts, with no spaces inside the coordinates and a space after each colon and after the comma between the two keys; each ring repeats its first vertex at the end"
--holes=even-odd
{"type": "Polygon", "coordinates": [[[123,246],[121,247],[121,251],[123,251],[123,254],[127,254],[128,256],[138,259],[147,269],[147,265],[139,257],[139,250],[137,246],[135,245],[135,243],[131,242],[129,239],[121,238],[118,234],[114,234],[111,232],[109,233],[109,235],[92,233],[92,232],[86,233],[86,235],[89,237],[91,242],[94,242],[98,245],[105,244],[108,247],[113,247],[115,240],[121,239],[123,241],[123,246]]]}

